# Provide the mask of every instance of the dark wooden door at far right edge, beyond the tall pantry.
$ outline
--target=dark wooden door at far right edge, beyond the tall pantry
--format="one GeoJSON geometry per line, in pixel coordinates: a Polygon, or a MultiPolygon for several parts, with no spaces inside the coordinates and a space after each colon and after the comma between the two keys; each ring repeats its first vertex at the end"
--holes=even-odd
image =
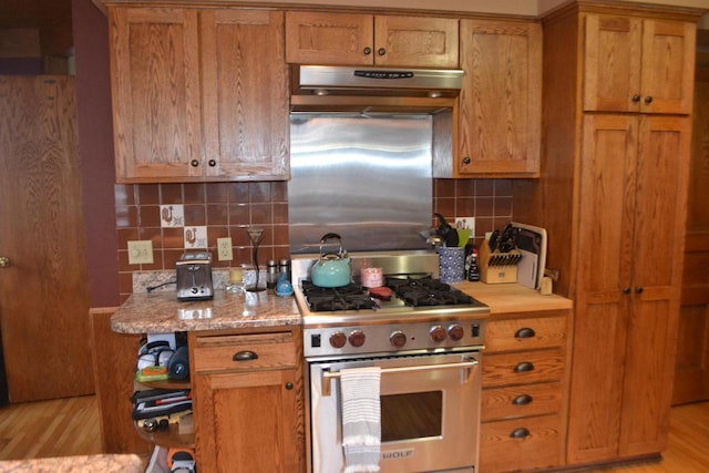
{"type": "Polygon", "coordinates": [[[695,88],[674,404],[709,399],[709,76],[695,88]]]}

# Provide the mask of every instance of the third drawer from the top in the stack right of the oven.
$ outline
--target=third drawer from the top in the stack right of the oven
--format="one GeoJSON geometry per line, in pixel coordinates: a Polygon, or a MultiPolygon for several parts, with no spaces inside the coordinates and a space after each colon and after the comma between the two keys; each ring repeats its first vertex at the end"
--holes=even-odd
{"type": "Polygon", "coordinates": [[[484,389],[481,419],[487,422],[526,415],[556,414],[562,410],[562,397],[561,382],[484,389]]]}

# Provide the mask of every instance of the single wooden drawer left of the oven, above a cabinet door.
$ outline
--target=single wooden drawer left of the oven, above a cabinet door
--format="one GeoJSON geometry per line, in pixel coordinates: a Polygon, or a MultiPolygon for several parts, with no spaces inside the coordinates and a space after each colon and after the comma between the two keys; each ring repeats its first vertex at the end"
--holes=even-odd
{"type": "Polygon", "coordinates": [[[191,356],[195,372],[294,368],[296,343],[291,332],[195,337],[191,356]]]}

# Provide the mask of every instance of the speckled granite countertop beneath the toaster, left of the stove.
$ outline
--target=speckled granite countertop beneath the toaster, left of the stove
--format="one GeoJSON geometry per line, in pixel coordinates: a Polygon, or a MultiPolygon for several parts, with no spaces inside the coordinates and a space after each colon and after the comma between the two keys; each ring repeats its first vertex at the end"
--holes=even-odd
{"type": "Polygon", "coordinates": [[[214,299],[181,302],[174,291],[134,292],[111,317],[111,329],[121,333],[220,330],[300,325],[294,297],[273,291],[227,292],[214,299]]]}

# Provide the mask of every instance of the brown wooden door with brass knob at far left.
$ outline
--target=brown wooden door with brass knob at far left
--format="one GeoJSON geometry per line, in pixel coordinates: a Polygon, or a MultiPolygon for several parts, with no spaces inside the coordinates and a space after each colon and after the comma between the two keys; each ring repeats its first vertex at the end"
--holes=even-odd
{"type": "Polygon", "coordinates": [[[0,216],[10,402],[92,393],[73,78],[0,75],[0,216]]]}

